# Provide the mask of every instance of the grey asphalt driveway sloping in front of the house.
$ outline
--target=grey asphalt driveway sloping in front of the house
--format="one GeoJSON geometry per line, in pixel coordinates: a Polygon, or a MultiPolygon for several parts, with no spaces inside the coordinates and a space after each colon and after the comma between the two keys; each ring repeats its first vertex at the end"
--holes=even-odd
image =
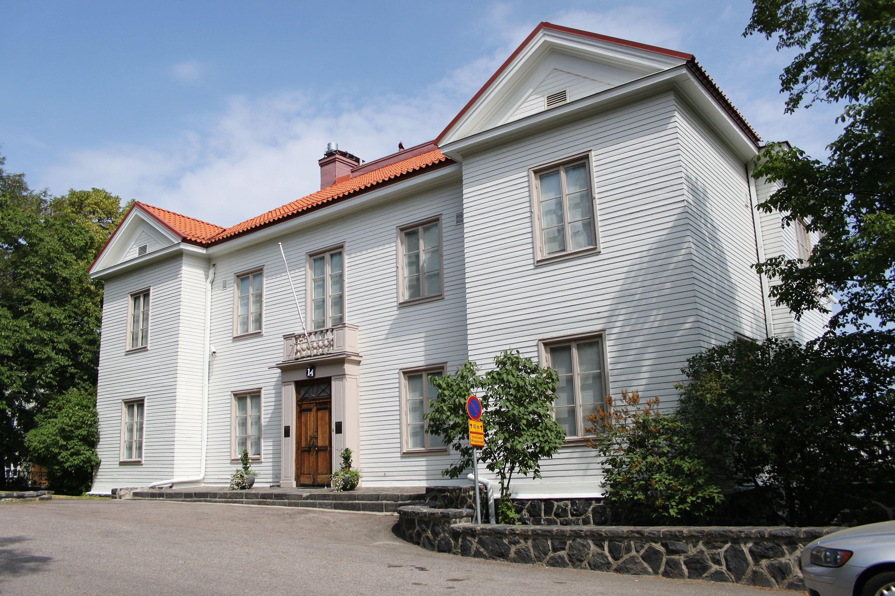
{"type": "MultiPolygon", "coordinates": [[[[767,594],[422,550],[395,516],[143,500],[0,505],[0,594],[767,594]]],[[[780,592],[796,593],[796,592],[780,592]]]]}

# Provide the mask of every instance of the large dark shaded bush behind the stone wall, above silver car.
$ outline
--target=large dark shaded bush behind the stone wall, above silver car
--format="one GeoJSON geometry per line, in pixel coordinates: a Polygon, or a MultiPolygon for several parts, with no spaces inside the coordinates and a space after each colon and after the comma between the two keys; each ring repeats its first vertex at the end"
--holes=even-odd
{"type": "Polygon", "coordinates": [[[751,523],[829,524],[895,477],[895,378],[852,356],[770,338],[687,360],[678,416],[722,486],[764,495],[751,523]]]}

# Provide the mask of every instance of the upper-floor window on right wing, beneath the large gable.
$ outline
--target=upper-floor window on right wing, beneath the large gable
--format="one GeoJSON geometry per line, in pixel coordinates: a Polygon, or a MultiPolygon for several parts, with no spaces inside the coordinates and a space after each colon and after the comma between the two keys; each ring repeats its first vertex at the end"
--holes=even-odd
{"type": "Polygon", "coordinates": [[[599,247],[589,157],[532,171],[538,260],[599,247]]]}

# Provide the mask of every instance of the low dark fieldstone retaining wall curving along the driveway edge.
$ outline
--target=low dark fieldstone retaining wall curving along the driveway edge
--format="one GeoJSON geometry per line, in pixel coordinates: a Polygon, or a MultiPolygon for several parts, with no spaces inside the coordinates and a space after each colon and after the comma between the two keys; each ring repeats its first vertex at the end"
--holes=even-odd
{"type": "Polygon", "coordinates": [[[471,509],[398,508],[396,532],[429,550],[513,563],[805,590],[797,557],[838,527],[475,525],[471,509]]]}

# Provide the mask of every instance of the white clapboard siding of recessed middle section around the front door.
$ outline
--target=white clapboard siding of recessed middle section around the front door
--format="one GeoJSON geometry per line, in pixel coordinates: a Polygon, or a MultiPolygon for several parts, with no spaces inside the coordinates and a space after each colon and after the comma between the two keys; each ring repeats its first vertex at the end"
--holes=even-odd
{"type": "MultiPolygon", "coordinates": [[[[270,239],[217,258],[212,292],[212,337],[217,356],[209,389],[207,483],[224,484],[238,462],[230,458],[230,399],[233,391],[262,390],[262,461],[259,483],[278,483],[280,471],[280,377],[270,369],[282,357],[282,336],[300,330],[285,267],[283,243],[295,290],[303,300],[306,256],[345,244],[345,321],[359,325],[361,454],[367,486],[440,482],[448,458],[402,456],[398,371],[445,363],[453,371],[466,360],[463,226],[460,182],[393,200],[311,229],[270,239]],[[398,307],[397,227],[442,217],[445,298],[398,307]],[[232,333],[234,275],[264,267],[264,333],[232,333]],[[223,282],[226,281],[226,290],[223,282]]],[[[302,302],[304,308],[304,302],[302,302]]],[[[306,313],[304,313],[306,315],[306,313]]]]}

